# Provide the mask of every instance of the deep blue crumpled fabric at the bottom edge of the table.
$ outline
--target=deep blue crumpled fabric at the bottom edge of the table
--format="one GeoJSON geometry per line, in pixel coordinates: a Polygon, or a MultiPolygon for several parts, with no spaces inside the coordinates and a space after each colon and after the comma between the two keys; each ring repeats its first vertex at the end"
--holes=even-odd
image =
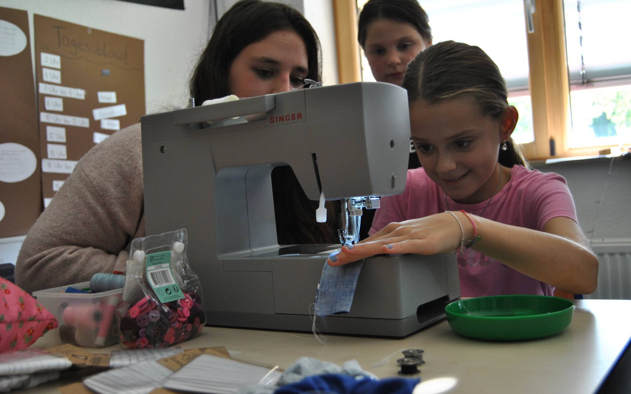
{"type": "Polygon", "coordinates": [[[309,391],[336,394],[411,394],[420,379],[356,379],[343,374],[307,376],[297,383],[281,386],[274,394],[301,394],[309,391]]]}

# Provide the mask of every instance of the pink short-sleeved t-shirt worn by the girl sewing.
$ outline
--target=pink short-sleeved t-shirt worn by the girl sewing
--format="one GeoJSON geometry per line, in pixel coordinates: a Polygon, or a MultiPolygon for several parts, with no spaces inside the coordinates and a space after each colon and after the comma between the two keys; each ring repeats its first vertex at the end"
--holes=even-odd
{"type": "MultiPolygon", "coordinates": [[[[541,173],[524,166],[513,166],[510,181],[490,201],[458,204],[425,174],[423,168],[408,170],[402,194],[381,199],[370,235],[392,222],[425,217],[439,212],[463,209],[475,215],[523,228],[541,231],[553,217],[565,216],[577,222],[574,200],[565,178],[555,173],[541,173]]],[[[509,240],[507,240],[509,241],[509,240]]],[[[543,294],[551,296],[554,287],[521,274],[506,265],[469,248],[458,255],[460,290],[463,297],[499,294],[543,294]]]]}

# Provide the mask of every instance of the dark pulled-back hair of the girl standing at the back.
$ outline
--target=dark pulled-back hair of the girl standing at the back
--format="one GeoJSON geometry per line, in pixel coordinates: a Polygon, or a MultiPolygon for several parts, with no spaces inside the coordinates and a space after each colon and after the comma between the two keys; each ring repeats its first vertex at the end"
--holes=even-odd
{"type": "Polygon", "coordinates": [[[432,28],[425,10],[416,0],[369,0],[364,4],[359,15],[357,40],[359,45],[366,43],[368,26],[374,20],[385,18],[397,22],[410,23],[414,26],[423,40],[432,42],[432,28]]]}

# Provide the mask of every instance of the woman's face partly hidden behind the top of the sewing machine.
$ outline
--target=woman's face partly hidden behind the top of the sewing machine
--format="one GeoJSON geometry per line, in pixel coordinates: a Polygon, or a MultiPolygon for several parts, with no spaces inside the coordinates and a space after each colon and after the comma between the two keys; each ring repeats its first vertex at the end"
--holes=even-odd
{"type": "Polygon", "coordinates": [[[269,33],[245,47],[232,62],[230,94],[253,97],[303,86],[309,74],[307,47],[292,30],[269,33]]]}

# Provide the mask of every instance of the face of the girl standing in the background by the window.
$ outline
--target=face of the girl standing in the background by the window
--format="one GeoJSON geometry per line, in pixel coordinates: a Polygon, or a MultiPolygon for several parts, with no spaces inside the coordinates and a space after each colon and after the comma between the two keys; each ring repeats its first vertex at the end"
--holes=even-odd
{"type": "Polygon", "coordinates": [[[408,63],[430,44],[410,23],[381,18],[368,25],[363,49],[377,82],[401,86],[408,63]]]}

